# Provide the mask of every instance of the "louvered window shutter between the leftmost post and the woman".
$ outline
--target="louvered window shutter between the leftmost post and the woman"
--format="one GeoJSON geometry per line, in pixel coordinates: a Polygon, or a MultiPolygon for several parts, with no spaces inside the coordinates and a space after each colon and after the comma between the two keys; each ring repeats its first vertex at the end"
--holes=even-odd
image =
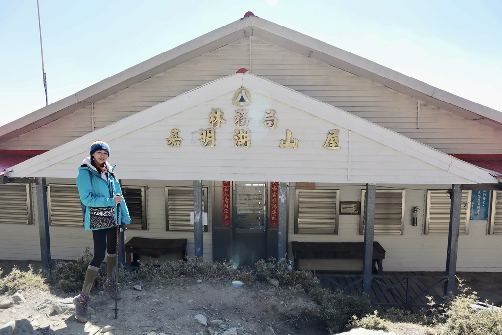
{"type": "Polygon", "coordinates": [[[47,202],[51,226],[84,225],[82,205],[76,185],[50,184],[47,186],[47,202]]]}

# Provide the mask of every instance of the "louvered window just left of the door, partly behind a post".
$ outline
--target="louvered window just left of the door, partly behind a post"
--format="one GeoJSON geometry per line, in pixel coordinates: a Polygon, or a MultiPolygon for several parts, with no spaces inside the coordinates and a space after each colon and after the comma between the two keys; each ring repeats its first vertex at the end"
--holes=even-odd
{"type": "MultiPolygon", "coordinates": [[[[202,211],[207,208],[207,187],[202,188],[202,211]]],[[[193,188],[166,187],[166,230],[192,231],[190,212],[193,212],[193,188]]],[[[208,227],[204,226],[205,231],[208,227]]]]}

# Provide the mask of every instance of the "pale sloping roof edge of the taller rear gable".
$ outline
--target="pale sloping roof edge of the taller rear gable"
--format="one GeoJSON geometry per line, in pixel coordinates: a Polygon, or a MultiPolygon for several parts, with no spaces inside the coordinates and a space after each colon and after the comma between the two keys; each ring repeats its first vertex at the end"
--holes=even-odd
{"type": "Polygon", "coordinates": [[[502,113],[428,85],[385,66],[246,13],[244,18],[121,71],[75,94],[0,127],[0,143],[46,125],[190,59],[244,36],[254,35],[321,62],[431,103],[457,115],[502,130],[502,113]]]}

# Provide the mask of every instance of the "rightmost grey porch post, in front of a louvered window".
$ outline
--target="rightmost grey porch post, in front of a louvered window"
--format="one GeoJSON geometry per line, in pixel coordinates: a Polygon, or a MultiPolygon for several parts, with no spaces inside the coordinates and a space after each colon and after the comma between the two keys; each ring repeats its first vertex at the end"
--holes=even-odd
{"type": "Polygon", "coordinates": [[[448,250],[446,253],[446,275],[448,279],[444,285],[444,295],[455,289],[455,275],[457,270],[458,234],[460,231],[460,208],[462,206],[462,191],[460,185],[451,185],[450,222],[448,228],[448,250]]]}

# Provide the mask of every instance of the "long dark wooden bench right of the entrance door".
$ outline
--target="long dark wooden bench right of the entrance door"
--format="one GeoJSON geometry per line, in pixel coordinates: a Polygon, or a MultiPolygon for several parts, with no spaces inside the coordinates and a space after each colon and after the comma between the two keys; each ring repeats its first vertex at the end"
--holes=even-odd
{"type": "MultiPolygon", "coordinates": [[[[364,242],[291,242],[295,269],[299,260],[363,260],[364,242]]],[[[373,242],[373,269],[378,265],[378,274],[382,274],[385,249],[378,242],[373,242]]]]}

